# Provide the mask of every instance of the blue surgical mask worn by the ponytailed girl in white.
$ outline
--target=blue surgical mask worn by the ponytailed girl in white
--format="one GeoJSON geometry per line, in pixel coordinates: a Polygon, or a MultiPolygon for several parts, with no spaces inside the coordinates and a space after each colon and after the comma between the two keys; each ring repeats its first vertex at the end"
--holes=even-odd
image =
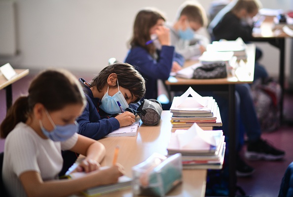
{"type": "Polygon", "coordinates": [[[74,122],[74,124],[68,124],[64,126],[55,125],[47,110],[46,114],[54,129],[52,131],[47,131],[43,127],[42,122],[40,120],[38,122],[40,124],[43,134],[49,139],[53,141],[65,141],[71,138],[74,135],[74,133],[78,131],[78,124],[76,121],[74,122]]]}

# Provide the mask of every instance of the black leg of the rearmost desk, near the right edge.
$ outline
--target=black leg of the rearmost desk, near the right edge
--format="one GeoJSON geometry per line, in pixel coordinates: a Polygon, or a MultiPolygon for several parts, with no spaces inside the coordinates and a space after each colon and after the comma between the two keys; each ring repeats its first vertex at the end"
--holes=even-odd
{"type": "Polygon", "coordinates": [[[284,99],[284,84],[285,84],[285,38],[279,39],[280,49],[280,67],[279,67],[279,83],[282,88],[281,102],[280,102],[280,119],[283,121],[283,99],[284,99]]]}

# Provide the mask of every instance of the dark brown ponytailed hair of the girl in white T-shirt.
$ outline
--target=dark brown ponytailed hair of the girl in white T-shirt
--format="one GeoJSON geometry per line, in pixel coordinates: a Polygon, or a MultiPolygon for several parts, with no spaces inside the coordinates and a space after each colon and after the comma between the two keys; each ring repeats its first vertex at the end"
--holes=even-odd
{"type": "Polygon", "coordinates": [[[19,97],[9,108],[0,125],[0,136],[5,138],[19,122],[25,123],[37,103],[43,104],[48,111],[56,111],[68,104],[85,105],[86,100],[80,84],[69,71],[42,71],[31,82],[29,95],[19,97]]]}

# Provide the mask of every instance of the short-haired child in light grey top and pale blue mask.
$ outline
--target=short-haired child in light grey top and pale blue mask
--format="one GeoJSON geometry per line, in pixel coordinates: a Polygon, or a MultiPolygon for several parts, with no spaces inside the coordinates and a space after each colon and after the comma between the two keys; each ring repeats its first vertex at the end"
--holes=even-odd
{"type": "Polygon", "coordinates": [[[197,2],[185,1],[179,8],[176,21],[166,26],[170,28],[171,45],[185,60],[200,56],[206,51],[209,39],[197,34],[202,27],[207,26],[207,16],[204,8],[197,2]]]}

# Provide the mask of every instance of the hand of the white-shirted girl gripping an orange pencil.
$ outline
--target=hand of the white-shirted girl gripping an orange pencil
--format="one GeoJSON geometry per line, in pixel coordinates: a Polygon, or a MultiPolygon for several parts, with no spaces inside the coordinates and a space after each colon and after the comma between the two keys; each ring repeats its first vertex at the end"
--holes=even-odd
{"type": "Polygon", "coordinates": [[[102,167],[100,172],[101,177],[103,177],[102,184],[117,183],[118,178],[125,174],[123,166],[118,163],[107,168],[102,167]]]}

